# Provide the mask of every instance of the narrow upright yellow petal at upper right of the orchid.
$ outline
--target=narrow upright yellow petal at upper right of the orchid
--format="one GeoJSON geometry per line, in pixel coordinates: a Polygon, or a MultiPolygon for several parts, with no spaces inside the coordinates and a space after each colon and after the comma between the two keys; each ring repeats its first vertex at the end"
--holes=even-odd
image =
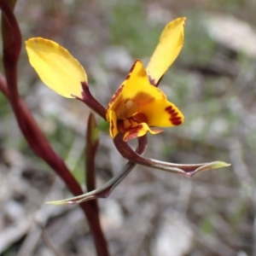
{"type": "Polygon", "coordinates": [[[148,78],[154,85],[158,84],[183,47],[185,20],[184,17],[172,20],[160,35],[159,44],[146,68],[148,78]]]}

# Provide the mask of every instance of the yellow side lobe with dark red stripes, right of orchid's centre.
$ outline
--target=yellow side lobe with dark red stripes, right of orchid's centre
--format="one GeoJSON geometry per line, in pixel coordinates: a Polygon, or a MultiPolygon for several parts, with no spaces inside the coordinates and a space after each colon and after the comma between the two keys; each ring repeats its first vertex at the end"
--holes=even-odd
{"type": "MultiPolygon", "coordinates": [[[[147,116],[149,126],[170,127],[181,125],[184,121],[183,114],[172,102],[167,100],[156,100],[143,105],[140,112],[147,116]]],[[[136,119],[136,116],[133,119],[136,119]]]]}

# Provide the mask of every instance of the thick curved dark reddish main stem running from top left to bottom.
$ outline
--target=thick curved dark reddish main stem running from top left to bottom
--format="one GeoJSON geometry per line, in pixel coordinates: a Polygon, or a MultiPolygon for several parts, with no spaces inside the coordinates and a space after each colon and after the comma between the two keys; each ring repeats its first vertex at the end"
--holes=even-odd
{"type": "MultiPolygon", "coordinates": [[[[0,9],[2,9],[2,32],[3,32],[3,66],[6,75],[5,79],[1,76],[0,90],[9,98],[9,102],[15,117],[20,126],[27,143],[36,154],[45,160],[49,166],[57,173],[58,176],[67,184],[67,188],[73,195],[83,194],[79,183],[74,179],[67,166],[61,158],[55,154],[55,151],[49,145],[49,142],[44,137],[44,134],[38,128],[37,123],[32,117],[32,114],[26,108],[26,105],[20,99],[17,89],[17,61],[20,55],[21,36],[20,28],[9,3],[5,0],[0,0],[0,9]]],[[[90,202],[84,202],[79,205],[90,225],[92,236],[94,237],[96,252],[98,256],[108,256],[107,241],[102,233],[101,226],[96,218],[93,207],[90,202]]]]}

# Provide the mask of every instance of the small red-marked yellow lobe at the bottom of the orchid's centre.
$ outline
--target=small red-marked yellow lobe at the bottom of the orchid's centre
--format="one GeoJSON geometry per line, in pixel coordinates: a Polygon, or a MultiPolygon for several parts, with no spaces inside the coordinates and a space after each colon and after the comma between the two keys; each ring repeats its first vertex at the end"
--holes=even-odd
{"type": "Polygon", "coordinates": [[[128,140],[131,140],[136,137],[142,137],[149,131],[151,134],[157,134],[162,132],[160,129],[150,129],[146,123],[138,124],[135,127],[132,127],[128,131],[125,132],[123,140],[127,142],[128,140]]]}

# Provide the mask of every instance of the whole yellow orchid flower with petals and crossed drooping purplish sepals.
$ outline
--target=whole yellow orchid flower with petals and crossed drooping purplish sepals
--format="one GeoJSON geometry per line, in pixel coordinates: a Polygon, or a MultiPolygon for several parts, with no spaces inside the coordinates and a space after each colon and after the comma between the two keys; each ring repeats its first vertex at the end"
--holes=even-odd
{"type": "Polygon", "coordinates": [[[102,188],[51,203],[81,203],[108,197],[136,164],[166,172],[176,172],[187,177],[192,177],[196,172],[230,166],[222,161],[181,165],[142,156],[147,145],[147,132],[157,134],[162,130],[155,127],[183,124],[183,114],[167,100],[165,93],[158,88],[158,84],[183,47],[185,20],[184,17],[177,18],[166,25],[148,66],[143,67],[143,62],[140,60],[134,62],[125,81],[113,94],[107,109],[91,96],[84,67],[67,49],[44,38],[30,38],[26,41],[29,61],[44,84],[61,96],[79,99],[106,119],[113,143],[119,153],[129,160],[124,168],[102,188]],[[138,140],[136,151],[126,143],[133,138],[138,140]]]}

